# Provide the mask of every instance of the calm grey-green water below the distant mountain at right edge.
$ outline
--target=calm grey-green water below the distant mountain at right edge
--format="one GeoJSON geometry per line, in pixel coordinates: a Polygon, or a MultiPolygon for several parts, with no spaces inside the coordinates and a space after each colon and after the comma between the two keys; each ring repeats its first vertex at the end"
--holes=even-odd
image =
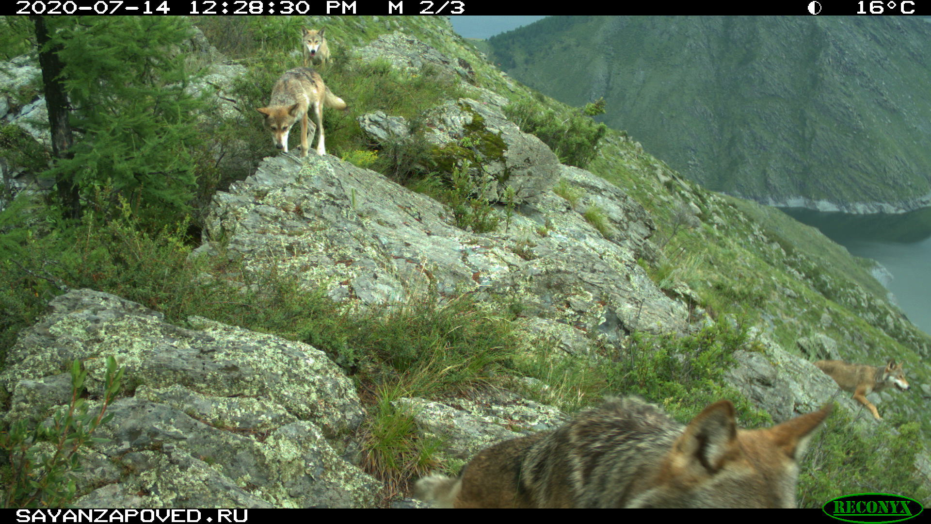
{"type": "Polygon", "coordinates": [[[912,324],[931,333],[931,209],[906,214],[822,213],[782,208],[821,230],[852,255],[872,258],[892,273],[886,283],[912,324]]]}

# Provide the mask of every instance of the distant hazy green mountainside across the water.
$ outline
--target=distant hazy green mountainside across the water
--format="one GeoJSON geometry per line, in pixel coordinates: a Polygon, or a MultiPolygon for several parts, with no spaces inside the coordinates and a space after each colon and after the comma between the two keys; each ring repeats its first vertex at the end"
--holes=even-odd
{"type": "Polygon", "coordinates": [[[923,21],[553,17],[489,43],[535,89],[603,96],[610,126],[710,189],[855,213],[931,201],[923,21]]]}

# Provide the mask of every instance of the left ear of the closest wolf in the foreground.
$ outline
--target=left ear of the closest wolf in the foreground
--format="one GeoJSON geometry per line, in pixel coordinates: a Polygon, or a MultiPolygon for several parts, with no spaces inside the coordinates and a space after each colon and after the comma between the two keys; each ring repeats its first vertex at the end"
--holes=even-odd
{"type": "Polygon", "coordinates": [[[734,405],[728,400],[715,402],[689,422],[685,432],[676,439],[672,447],[676,455],[673,463],[714,473],[724,464],[736,436],[734,405]]]}

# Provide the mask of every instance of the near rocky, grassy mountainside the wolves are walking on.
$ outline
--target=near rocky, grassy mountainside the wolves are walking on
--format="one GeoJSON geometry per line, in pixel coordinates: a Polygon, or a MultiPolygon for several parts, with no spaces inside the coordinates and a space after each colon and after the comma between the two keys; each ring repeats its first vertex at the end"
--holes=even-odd
{"type": "MultiPolygon", "coordinates": [[[[331,38],[327,86],[350,109],[327,112],[331,155],[304,159],[262,159],[275,149],[254,112],[300,61],[293,42],[262,50],[230,37],[238,19],[204,21],[218,44],[252,46],[244,65],[215,64],[227,83],[211,85],[236,109],[217,117],[234,130],[215,135],[218,150],[259,158],[236,159],[245,180],[205,187],[200,247],[128,213],[59,234],[11,231],[28,214],[0,215],[0,249],[21,260],[0,265],[2,316],[33,324],[23,304],[44,309],[59,281],[95,290],[56,297],[13,347],[0,339],[0,424],[67,403],[73,355],[91,395],[101,357],[127,369],[105,428],[115,442],[95,444],[76,505],[406,503],[414,476],[604,394],[641,394],[682,420],[721,398],[747,427],[786,420],[833,400],[809,362],[824,357],[896,358],[931,393],[931,338],[869,261],[683,179],[620,131],[590,171],[559,165],[567,135],[594,148],[567,124],[587,117],[501,74],[445,18],[336,19],[313,24],[331,38]]],[[[305,21],[252,22],[275,34],[305,21]]],[[[882,425],[836,399],[800,504],[862,486],[931,500],[911,489],[931,427],[922,395],[879,396],[882,425]]]]}

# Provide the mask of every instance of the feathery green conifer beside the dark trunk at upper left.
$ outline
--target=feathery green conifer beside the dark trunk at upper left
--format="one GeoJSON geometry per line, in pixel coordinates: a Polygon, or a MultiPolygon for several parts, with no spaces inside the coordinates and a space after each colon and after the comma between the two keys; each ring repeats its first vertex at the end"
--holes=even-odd
{"type": "Polygon", "coordinates": [[[204,105],[183,52],[190,22],[46,17],[45,24],[43,48],[61,62],[55,77],[68,94],[72,127],[82,133],[51,170],[60,185],[74,185],[86,201],[109,188],[103,194],[110,200],[96,200],[104,213],[119,197],[156,223],[182,215],[196,182],[196,115],[204,105]]]}

